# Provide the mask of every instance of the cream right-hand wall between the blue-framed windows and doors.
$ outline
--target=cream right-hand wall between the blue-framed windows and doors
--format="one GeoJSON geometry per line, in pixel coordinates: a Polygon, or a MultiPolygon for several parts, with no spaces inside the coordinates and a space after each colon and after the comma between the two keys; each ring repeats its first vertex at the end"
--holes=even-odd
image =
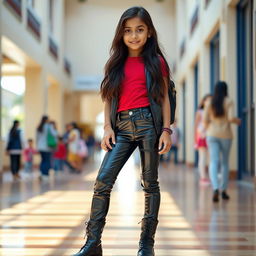
{"type": "MultiPolygon", "coordinates": [[[[186,79],[187,93],[189,95],[187,104],[187,131],[186,157],[187,162],[194,162],[193,129],[194,129],[194,79],[193,65],[199,62],[199,88],[200,99],[210,91],[210,40],[220,30],[220,76],[229,85],[229,94],[235,101],[237,99],[236,81],[236,5],[234,0],[212,0],[205,8],[204,0],[177,0],[177,86],[182,85],[186,79]],[[190,34],[191,17],[199,4],[199,22],[190,34]],[[180,44],[186,39],[186,52],[182,58],[179,56],[180,44]]],[[[237,107],[235,107],[237,109],[237,107]]],[[[178,117],[181,120],[181,116],[178,117]]],[[[231,150],[230,167],[237,170],[237,129],[233,129],[234,141],[231,150]]]]}

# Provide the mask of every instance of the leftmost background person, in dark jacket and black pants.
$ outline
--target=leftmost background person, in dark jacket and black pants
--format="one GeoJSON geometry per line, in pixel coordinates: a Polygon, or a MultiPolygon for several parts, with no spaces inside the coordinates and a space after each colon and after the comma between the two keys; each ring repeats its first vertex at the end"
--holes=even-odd
{"type": "Polygon", "coordinates": [[[6,153],[10,156],[10,166],[14,180],[20,179],[20,156],[24,145],[23,134],[19,125],[20,122],[14,120],[12,128],[8,134],[6,146],[6,153]]]}

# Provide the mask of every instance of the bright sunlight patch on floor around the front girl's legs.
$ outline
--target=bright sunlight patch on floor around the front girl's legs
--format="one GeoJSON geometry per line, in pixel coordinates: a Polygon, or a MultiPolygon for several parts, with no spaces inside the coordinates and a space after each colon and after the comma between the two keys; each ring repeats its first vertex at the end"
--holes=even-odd
{"type": "MultiPolygon", "coordinates": [[[[97,170],[86,175],[84,180],[92,181],[96,175],[97,170]]],[[[139,170],[131,158],[118,177],[117,191],[112,192],[108,221],[103,233],[103,244],[106,247],[104,255],[132,256],[136,253],[140,233],[138,222],[144,209],[143,191],[136,191],[138,177],[139,170]],[[115,248],[111,249],[113,245],[115,248]],[[116,248],[117,245],[120,248],[116,248]]],[[[163,249],[167,243],[174,247],[191,244],[201,246],[170,194],[162,191],[161,195],[160,223],[156,234],[157,255],[169,255],[163,249]],[[175,238],[173,241],[172,237],[175,238]],[[184,237],[188,240],[183,241],[184,237]]],[[[3,209],[0,212],[0,224],[4,228],[0,229],[0,254],[70,255],[81,245],[91,196],[92,191],[49,191],[3,209]]],[[[190,252],[175,248],[171,251],[173,255],[188,255],[184,252],[190,252]]],[[[210,256],[202,249],[191,250],[189,255],[210,256]]]]}

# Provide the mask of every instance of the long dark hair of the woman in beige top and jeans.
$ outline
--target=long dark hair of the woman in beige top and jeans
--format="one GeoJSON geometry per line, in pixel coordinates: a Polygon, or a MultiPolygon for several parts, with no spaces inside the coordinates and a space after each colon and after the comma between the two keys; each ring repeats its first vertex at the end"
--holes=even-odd
{"type": "Polygon", "coordinates": [[[224,81],[218,81],[212,96],[212,110],[216,117],[224,116],[224,99],[228,96],[228,85],[224,81]]]}

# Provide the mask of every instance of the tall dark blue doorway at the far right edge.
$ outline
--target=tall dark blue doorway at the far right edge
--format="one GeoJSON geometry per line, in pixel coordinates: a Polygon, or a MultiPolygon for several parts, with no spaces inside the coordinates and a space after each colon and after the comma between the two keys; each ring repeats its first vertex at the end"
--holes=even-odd
{"type": "Polygon", "coordinates": [[[255,175],[255,103],[253,100],[253,0],[241,0],[237,5],[237,95],[238,114],[238,178],[255,175]]]}

